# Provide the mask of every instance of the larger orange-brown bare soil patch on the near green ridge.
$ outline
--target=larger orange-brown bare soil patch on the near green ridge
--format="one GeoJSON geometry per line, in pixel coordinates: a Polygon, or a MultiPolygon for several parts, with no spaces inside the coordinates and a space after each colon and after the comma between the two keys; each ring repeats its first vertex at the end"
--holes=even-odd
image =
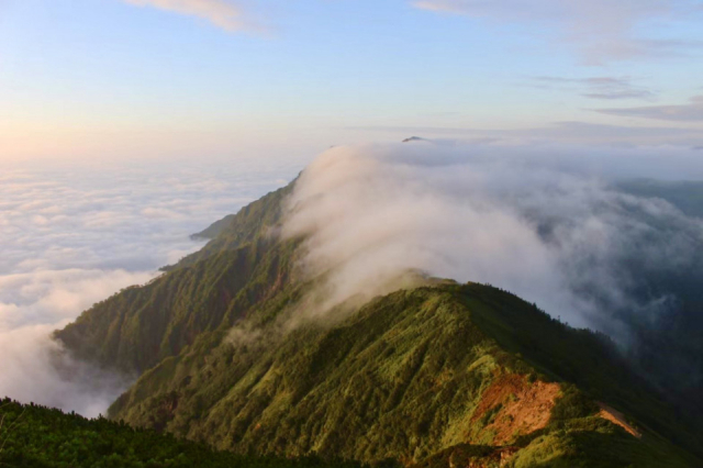
{"type": "Polygon", "coordinates": [[[505,445],[517,436],[544,428],[559,391],[558,383],[529,382],[526,376],[503,375],[483,392],[471,422],[482,420],[487,424],[483,431],[495,433],[492,445],[505,445]]]}

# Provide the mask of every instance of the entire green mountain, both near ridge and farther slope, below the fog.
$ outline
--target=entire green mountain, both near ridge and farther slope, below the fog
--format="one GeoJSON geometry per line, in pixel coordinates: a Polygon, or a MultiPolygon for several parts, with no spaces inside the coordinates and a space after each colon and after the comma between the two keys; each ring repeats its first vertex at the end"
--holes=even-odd
{"type": "Polygon", "coordinates": [[[293,185],[56,332],[78,358],[140,376],[110,419],[239,454],[703,466],[695,413],[607,337],[507,291],[410,275],[397,292],[315,315],[301,239],[276,235],[293,185]]]}

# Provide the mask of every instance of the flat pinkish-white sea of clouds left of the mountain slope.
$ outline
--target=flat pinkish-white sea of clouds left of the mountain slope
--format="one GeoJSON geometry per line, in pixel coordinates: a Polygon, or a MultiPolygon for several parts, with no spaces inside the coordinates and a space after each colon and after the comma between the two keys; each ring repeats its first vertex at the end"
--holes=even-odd
{"type": "Polygon", "coordinates": [[[276,189],[295,164],[4,164],[0,397],[96,416],[130,383],[74,361],[51,333],[200,248],[189,235],[276,189]]]}

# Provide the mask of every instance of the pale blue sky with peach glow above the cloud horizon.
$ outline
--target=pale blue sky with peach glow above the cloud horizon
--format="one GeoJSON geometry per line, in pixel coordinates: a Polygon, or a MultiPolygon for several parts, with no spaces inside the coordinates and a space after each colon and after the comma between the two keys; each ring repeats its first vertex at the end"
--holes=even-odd
{"type": "Polygon", "coordinates": [[[703,146],[696,0],[0,0],[0,160],[703,146]]]}

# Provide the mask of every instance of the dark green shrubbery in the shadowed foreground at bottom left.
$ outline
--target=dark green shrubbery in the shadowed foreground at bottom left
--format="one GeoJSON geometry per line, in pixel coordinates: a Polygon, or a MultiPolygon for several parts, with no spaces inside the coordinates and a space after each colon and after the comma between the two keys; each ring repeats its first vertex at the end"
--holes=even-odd
{"type": "Polygon", "coordinates": [[[360,468],[316,457],[286,459],[214,452],[169,434],[0,400],[0,466],[32,468],[360,468]]]}

